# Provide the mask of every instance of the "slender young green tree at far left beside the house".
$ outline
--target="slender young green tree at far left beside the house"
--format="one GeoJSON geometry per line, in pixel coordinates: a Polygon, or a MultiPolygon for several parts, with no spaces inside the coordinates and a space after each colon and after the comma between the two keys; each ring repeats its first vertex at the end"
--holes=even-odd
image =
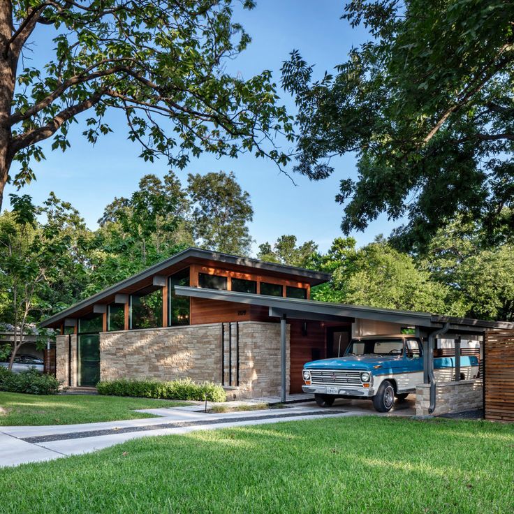
{"type": "Polygon", "coordinates": [[[13,211],[0,216],[0,280],[10,300],[3,321],[13,325],[9,369],[31,324],[50,311],[45,297],[61,283],[62,270],[73,266],[73,236],[67,229],[76,221],[75,212],[67,212],[54,196],[41,209],[28,195],[10,198],[13,211]],[[46,220],[39,222],[38,214],[46,220]]]}

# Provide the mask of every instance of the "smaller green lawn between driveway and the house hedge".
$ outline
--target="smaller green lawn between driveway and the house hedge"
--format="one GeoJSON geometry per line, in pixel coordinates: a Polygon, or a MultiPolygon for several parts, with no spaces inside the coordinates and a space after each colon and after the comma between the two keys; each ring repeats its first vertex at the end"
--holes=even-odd
{"type": "Polygon", "coordinates": [[[188,404],[164,399],[93,395],[37,396],[0,392],[0,426],[70,425],[153,418],[152,414],[134,412],[133,409],[156,409],[177,405],[188,404]]]}

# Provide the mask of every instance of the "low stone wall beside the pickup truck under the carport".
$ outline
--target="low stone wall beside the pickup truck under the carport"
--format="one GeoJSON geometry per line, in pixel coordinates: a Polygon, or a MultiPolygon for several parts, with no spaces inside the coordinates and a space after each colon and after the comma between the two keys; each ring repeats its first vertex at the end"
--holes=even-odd
{"type": "MultiPolygon", "coordinates": [[[[429,416],[430,385],[416,386],[416,415],[429,416]]],[[[436,408],[431,416],[483,408],[483,383],[478,380],[443,382],[436,385],[436,408]]]]}

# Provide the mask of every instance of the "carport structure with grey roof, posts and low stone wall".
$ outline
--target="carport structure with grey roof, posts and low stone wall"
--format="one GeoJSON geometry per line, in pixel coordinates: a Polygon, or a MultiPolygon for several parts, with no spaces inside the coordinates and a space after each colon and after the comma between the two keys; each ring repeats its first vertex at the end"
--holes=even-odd
{"type": "MultiPolygon", "coordinates": [[[[234,291],[218,291],[207,288],[175,286],[177,295],[205,298],[221,302],[236,302],[257,307],[265,311],[265,318],[277,321],[281,325],[281,399],[287,395],[287,325],[288,322],[302,321],[330,323],[351,323],[351,336],[384,335],[399,333],[404,328],[413,330],[413,335],[423,341],[423,384],[416,391],[418,414],[438,415],[450,413],[455,409],[463,409],[467,404],[476,407],[483,397],[482,380],[460,380],[461,343],[470,337],[480,342],[480,363],[483,362],[483,346],[486,332],[494,330],[513,330],[514,323],[482,321],[469,318],[441,316],[416,311],[401,311],[395,309],[379,309],[315,300],[300,300],[296,298],[272,297],[239,293],[234,291]],[[455,359],[455,381],[436,383],[434,377],[434,350],[438,340],[454,342],[453,355],[455,359]]],[[[514,332],[513,332],[514,333],[514,332]]],[[[514,341],[514,336],[513,336],[514,341]]],[[[293,340],[291,348],[293,348],[293,340]]],[[[449,355],[447,355],[449,356],[449,355]]],[[[480,369],[483,377],[483,367],[480,369]]],[[[464,409],[465,410],[465,409],[464,409]]]]}

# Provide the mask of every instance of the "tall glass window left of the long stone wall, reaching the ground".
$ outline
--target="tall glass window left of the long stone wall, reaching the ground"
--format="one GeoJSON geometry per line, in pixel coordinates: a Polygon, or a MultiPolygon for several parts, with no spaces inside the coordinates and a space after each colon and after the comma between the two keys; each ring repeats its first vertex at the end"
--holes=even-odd
{"type": "Polygon", "coordinates": [[[78,321],[78,385],[94,387],[100,380],[100,335],[103,316],[78,321]]]}

